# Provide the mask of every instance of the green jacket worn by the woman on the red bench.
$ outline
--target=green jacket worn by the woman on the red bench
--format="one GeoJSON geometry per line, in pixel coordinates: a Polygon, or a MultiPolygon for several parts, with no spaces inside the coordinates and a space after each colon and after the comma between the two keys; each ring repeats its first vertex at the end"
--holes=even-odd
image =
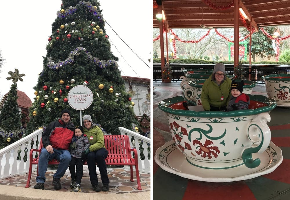
{"type": "Polygon", "coordinates": [[[104,139],[104,134],[102,130],[97,126],[97,124],[92,123],[91,128],[88,130],[86,127],[84,127],[84,134],[87,135],[88,140],[90,142],[90,152],[91,151],[97,151],[101,148],[106,148],[105,146],[105,139],[104,139]],[[91,140],[91,136],[93,136],[91,140]]]}

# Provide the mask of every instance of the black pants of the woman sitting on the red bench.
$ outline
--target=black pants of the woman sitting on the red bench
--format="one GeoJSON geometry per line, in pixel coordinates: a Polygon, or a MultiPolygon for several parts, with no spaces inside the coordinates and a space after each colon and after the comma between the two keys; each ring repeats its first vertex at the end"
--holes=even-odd
{"type": "Polygon", "coordinates": [[[90,175],[90,181],[92,185],[98,184],[98,177],[96,172],[96,162],[98,164],[102,184],[109,184],[109,178],[107,173],[107,166],[105,158],[108,156],[108,151],[105,148],[100,148],[97,151],[90,152],[87,155],[88,170],[90,175]]]}

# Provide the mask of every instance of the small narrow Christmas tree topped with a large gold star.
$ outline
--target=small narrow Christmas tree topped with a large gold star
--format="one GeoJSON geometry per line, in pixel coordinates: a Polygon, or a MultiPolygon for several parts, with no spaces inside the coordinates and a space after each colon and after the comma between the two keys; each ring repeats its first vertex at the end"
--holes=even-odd
{"type": "Polygon", "coordinates": [[[0,113],[0,148],[8,146],[9,144],[19,140],[24,133],[24,129],[21,127],[21,114],[17,104],[17,81],[23,81],[21,78],[25,74],[19,74],[19,70],[15,69],[14,73],[9,71],[10,77],[7,80],[12,79],[13,84],[10,87],[7,100],[4,106],[1,108],[0,113]]]}

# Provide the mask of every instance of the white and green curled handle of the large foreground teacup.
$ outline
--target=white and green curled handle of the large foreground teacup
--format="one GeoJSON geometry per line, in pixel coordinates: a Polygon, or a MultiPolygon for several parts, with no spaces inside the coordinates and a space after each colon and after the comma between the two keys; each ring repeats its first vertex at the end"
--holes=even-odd
{"type": "Polygon", "coordinates": [[[252,153],[263,153],[270,144],[271,131],[267,125],[270,120],[269,113],[260,113],[248,126],[249,140],[253,143],[260,142],[258,146],[257,144],[252,144],[253,147],[245,149],[242,153],[243,162],[248,168],[258,167],[261,163],[259,158],[253,160],[252,153]]]}

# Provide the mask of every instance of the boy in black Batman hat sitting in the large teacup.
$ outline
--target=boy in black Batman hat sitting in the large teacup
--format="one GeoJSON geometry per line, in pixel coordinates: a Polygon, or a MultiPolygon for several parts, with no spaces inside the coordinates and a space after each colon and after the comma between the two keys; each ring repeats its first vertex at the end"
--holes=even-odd
{"type": "Polygon", "coordinates": [[[235,79],[231,84],[231,98],[227,106],[228,111],[233,110],[244,110],[249,108],[250,98],[248,95],[243,93],[244,81],[240,82],[235,79]]]}

